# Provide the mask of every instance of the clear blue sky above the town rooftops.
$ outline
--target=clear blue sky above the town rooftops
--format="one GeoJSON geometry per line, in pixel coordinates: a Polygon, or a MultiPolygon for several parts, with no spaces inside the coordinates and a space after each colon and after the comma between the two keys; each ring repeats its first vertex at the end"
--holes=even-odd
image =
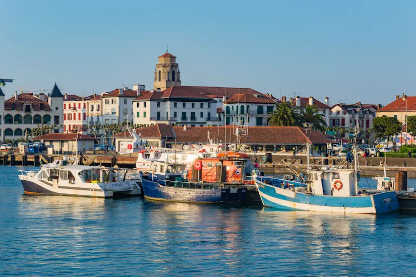
{"type": "Polygon", "coordinates": [[[90,95],[153,88],[157,57],[182,85],[387,104],[416,95],[416,1],[0,0],[2,88],[90,95]]]}

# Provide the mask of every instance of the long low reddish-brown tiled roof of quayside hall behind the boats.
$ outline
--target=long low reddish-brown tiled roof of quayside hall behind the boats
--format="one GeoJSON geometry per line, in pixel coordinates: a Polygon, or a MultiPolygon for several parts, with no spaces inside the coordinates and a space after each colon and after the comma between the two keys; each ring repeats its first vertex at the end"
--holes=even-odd
{"type": "MultiPolygon", "coordinates": [[[[177,143],[206,143],[208,131],[211,137],[220,134],[224,137],[224,128],[226,128],[225,137],[231,141],[235,140],[234,127],[228,125],[226,127],[173,127],[176,134],[177,143]]],[[[247,135],[241,136],[242,144],[272,144],[272,145],[302,145],[306,144],[308,136],[305,129],[301,127],[248,127],[247,135]]],[[[174,140],[170,140],[173,142],[174,140]]],[[[324,133],[313,131],[309,134],[309,142],[312,144],[334,143],[329,140],[324,133]]]]}

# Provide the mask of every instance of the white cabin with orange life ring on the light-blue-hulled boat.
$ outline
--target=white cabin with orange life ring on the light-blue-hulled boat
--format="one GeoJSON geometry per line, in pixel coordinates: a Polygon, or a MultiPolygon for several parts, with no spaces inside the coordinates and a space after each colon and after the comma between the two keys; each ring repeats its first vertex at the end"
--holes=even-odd
{"type": "Polygon", "coordinates": [[[310,173],[311,189],[315,195],[351,196],[355,194],[355,172],[352,169],[312,170],[310,173]]]}

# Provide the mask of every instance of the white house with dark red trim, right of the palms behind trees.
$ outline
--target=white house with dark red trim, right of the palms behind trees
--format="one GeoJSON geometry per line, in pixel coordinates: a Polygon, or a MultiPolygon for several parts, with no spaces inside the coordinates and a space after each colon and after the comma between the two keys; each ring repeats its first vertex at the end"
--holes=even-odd
{"type": "Polygon", "coordinates": [[[374,104],[355,104],[339,103],[331,107],[329,112],[329,127],[338,129],[339,137],[348,140],[350,132],[355,126],[364,131],[364,137],[367,143],[373,143],[375,140],[373,130],[373,121],[376,117],[377,105],[374,104]],[[357,121],[358,115],[358,121],[357,121]]]}

